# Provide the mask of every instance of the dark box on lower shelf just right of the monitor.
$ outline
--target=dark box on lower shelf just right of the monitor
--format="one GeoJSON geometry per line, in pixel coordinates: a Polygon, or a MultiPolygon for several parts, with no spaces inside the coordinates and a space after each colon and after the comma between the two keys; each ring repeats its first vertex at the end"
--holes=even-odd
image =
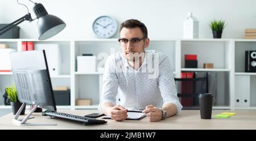
{"type": "Polygon", "coordinates": [[[70,105],[70,89],[68,91],[53,91],[56,105],[70,105]]]}

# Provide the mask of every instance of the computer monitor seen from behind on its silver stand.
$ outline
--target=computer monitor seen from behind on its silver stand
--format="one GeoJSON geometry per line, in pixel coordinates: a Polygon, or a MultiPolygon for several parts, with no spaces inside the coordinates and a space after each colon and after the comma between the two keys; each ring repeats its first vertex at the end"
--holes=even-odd
{"type": "Polygon", "coordinates": [[[27,119],[32,118],[30,116],[38,106],[51,111],[57,110],[45,51],[12,52],[10,59],[18,99],[23,102],[14,116],[13,122],[19,125],[55,125],[25,123],[27,119]],[[35,106],[25,118],[20,120],[18,119],[19,114],[26,104],[35,106]]]}

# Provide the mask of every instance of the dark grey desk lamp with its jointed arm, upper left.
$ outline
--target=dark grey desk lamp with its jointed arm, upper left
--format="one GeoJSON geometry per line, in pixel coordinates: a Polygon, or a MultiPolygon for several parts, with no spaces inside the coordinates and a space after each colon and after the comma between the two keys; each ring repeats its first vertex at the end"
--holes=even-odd
{"type": "MultiPolygon", "coordinates": [[[[17,0],[17,3],[19,3],[18,0],[17,0]]],[[[21,3],[19,4],[23,5],[21,3]]],[[[38,24],[37,24],[38,34],[39,34],[38,40],[46,40],[52,36],[55,36],[57,33],[62,31],[66,27],[66,24],[63,22],[63,20],[61,20],[60,18],[57,18],[57,16],[48,14],[48,12],[46,11],[46,8],[44,8],[44,6],[41,3],[34,3],[34,4],[35,6],[33,7],[33,11],[36,15],[36,19],[38,19],[38,24]]],[[[23,5],[23,6],[26,6],[26,5],[23,5]]],[[[16,25],[24,22],[24,20],[28,20],[32,22],[35,19],[31,18],[31,14],[28,11],[28,13],[24,15],[22,18],[19,18],[18,20],[15,20],[13,23],[10,23],[5,27],[3,27],[2,29],[0,29],[0,35],[9,31],[11,28],[15,27],[16,25]]]]}

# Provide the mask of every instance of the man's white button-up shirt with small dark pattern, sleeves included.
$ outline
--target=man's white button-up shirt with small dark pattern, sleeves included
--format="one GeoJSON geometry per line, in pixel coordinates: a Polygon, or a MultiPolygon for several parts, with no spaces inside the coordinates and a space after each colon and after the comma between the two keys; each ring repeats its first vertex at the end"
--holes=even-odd
{"type": "Polygon", "coordinates": [[[181,111],[183,106],[177,97],[168,57],[155,50],[145,52],[145,58],[138,70],[129,66],[122,52],[108,57],[98,108],[101,112],[102,103],[117,104],[117,94],[120,99],[119,104],[129,110],[142,110],[151,104],[162,108],[164,104],[173,103],[177,106],[177,112],[181,111]]]}

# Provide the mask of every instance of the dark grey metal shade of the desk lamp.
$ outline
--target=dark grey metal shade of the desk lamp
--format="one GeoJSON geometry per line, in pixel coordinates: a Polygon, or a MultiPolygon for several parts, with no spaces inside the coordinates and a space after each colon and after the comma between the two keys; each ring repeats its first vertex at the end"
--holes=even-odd
{"type": "Polygon", "coordinates": [[[46,40],[62,31],[66,24],[53,15],[44,15],[38,19],[38,40],[46,40]]]}

